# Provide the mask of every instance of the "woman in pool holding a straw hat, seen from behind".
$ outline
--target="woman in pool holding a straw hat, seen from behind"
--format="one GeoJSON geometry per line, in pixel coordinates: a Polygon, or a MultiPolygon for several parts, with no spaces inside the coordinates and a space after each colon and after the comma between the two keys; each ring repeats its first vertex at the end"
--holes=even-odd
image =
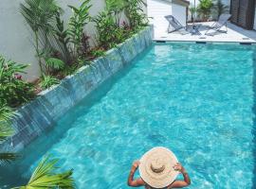
{"type": "Polygon", "coordinates": [[[185,168],[178,163],[174,153],[165,147],[154,147],[146,152],[139,161],[133,163],[128,178],[129,186],[145,186],[146,189],[182,188],[190,184],[191,179],[185,168]],[[137,168],[140,178],[134,180],[137,168]],[[184,180],[175,180],[179,173],[184,180]]]}

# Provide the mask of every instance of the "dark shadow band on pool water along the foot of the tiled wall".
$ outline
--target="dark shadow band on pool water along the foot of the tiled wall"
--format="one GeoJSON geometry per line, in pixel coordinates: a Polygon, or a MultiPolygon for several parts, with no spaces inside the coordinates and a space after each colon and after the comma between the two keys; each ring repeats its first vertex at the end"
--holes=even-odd
{"type": "MultiPolygon", "coordinates": [[[[149,52],[150,49],[151,48],[149,47],[143,53],[138,55],[134,62],[141,59],[141,57],[149,52]]],[[[29,144],[29,146],[20,153],[19,160],[10,165],[1,167],[0,189],[25,184],[27,182],[27,178],[30,177],[28,168],[33,163],[44,157],[48,149],[50,149],[54,144],[60,142],[66,131],[70,129],[70,125],[72,125],[72,123],[74,123],[79,117],[89,112],[92,106],[99,103],[101,98],[111,91],[119,79],[121,77],[125,77],[135,66],[135,63],[130,63],[117,74],[102,82],[97,89],[82,99],[82,101],[75,107],[66,112],[56,125],[50,129],[46,129],[39,138],[29,144]]]]}

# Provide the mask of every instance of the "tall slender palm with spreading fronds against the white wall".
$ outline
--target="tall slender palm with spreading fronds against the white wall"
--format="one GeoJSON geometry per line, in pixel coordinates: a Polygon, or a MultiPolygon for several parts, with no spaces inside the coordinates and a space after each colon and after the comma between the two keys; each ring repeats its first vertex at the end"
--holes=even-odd
{"type": "Polygon", "coordinates": [[[54,31],[53,23],[60,7],[57,6],[55,0],[25,0],[24,4],[20,4],[20,8],[28,26],[33,31],[36,55],[43,75],[42,53],[50,48],[49,36],[54,31]]]}

